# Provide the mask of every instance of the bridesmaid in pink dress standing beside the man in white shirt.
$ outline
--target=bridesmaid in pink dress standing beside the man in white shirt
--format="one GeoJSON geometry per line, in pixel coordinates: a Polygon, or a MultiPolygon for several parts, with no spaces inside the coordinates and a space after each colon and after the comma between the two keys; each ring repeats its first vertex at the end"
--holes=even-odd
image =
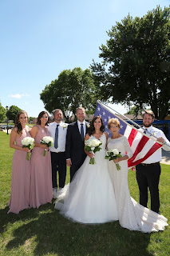
{"type": "Polygon", "coordinates": [[[31,154],[31,184],[30,184],[30,206],[38,208],[42,204],[51,202],[53,198],[51,156],[49,148],[41,144],[44,136],[50,136],[47,130],[49,116],[42,111],[38,115],[37,125],[30,131],[35,139],[35,146],[31,154]],[[43,156],[43,151],[46,155],[43,156]]]}

